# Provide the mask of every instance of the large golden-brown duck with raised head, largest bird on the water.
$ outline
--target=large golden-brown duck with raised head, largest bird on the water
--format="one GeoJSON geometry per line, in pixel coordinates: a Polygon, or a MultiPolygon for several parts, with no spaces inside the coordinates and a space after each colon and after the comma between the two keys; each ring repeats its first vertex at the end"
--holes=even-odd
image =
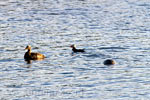
{"type": "Polygon", "coordinates": [[[27,45],[25,50],[28,50],[24,55],[25,60],[41,60],[45,58],[43,54],[31,52],[30,45],[27,45]]]}

